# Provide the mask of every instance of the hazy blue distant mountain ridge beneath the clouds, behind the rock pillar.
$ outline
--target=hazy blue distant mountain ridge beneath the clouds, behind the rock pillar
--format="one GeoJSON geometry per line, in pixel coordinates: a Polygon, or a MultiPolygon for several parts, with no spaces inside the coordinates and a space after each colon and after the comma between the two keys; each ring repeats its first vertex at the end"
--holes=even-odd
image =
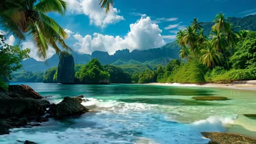
{"type": "MultiPolygon", "coordinates": [[[[108,52],[104,51],[94,51],[91,55],[74,52],[72,55],[74,57],[75,64],[88,63],[92,58],[97,58],[102,64],[112,64],[116,61],[128,62],[130,60],[134,60],[140,63],[150,63],[150,61],[155,60],[155,62],[159,62],[159,64],[166,64],[166,60],[162,62],[159,59],[179,58],[178,53],[180,49],[181,48],[176,44],[176,42],[173,41],[162,47],[149,50],[133,50],[131,52],[128,49],[118,50],[114,53],[114,55],[109,55],[108,52]],[[156,59],[158,59],[158,61],[156,61],[156,59]]],[[[33,58],[28,58],[25,61],[22,61],[24,70],[34,72],[46,71],[49,68],[56,67],[58,63],[59,56],[56,54],[47,59],[45,62],[36,61],[36,59],[33,58]]]]}

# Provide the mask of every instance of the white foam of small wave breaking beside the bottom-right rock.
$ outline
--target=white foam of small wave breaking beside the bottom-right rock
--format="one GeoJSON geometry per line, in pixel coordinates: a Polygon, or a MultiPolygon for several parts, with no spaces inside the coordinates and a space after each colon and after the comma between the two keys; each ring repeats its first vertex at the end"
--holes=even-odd
{"type": "Polygon", "coordinates": [[[224,132],[225,125],[234,123],[235,119],[237,119],[237,115],[230,117],[210,116],[189,125],[200,132],[224,132]]]}

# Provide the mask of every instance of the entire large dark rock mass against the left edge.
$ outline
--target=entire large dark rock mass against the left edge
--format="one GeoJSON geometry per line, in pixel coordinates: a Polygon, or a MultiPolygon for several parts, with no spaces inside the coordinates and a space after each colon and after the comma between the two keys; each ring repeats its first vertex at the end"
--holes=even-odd
{"type": "MultiPolygon", "coordinates": [[[[9,134],[10,128],[23,127],[32,121],[47,121],[42,116],[49,101],[26,85],[9,86],[8,91],[0,91],[0,135],[9,134]]],[[[31,124],[36,126],[39,124],[31,124]]]]}

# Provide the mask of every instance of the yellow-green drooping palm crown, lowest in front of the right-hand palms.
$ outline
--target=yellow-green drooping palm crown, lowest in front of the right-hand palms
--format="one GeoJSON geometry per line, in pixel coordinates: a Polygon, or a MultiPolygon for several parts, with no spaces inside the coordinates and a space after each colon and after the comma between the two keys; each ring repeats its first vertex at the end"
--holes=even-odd
{"type": "Polygon", "coordinates": [[[213,47],[210,40],[206,41],[204,49],[202,49],[200,52],[202,53],[200,61],[202,61],[207,68],[214,68],[220,63],[220,57],[222,54],[213,47]]]}

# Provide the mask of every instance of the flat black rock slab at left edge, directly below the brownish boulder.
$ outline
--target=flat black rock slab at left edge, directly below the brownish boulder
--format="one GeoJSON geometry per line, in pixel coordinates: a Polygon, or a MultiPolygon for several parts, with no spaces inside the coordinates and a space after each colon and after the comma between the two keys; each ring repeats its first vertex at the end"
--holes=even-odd
{"type": "Polygon", "coordinates": [[[32,98],[0,99],[0,118],[43,116],[49,101],[32,98]]]}

